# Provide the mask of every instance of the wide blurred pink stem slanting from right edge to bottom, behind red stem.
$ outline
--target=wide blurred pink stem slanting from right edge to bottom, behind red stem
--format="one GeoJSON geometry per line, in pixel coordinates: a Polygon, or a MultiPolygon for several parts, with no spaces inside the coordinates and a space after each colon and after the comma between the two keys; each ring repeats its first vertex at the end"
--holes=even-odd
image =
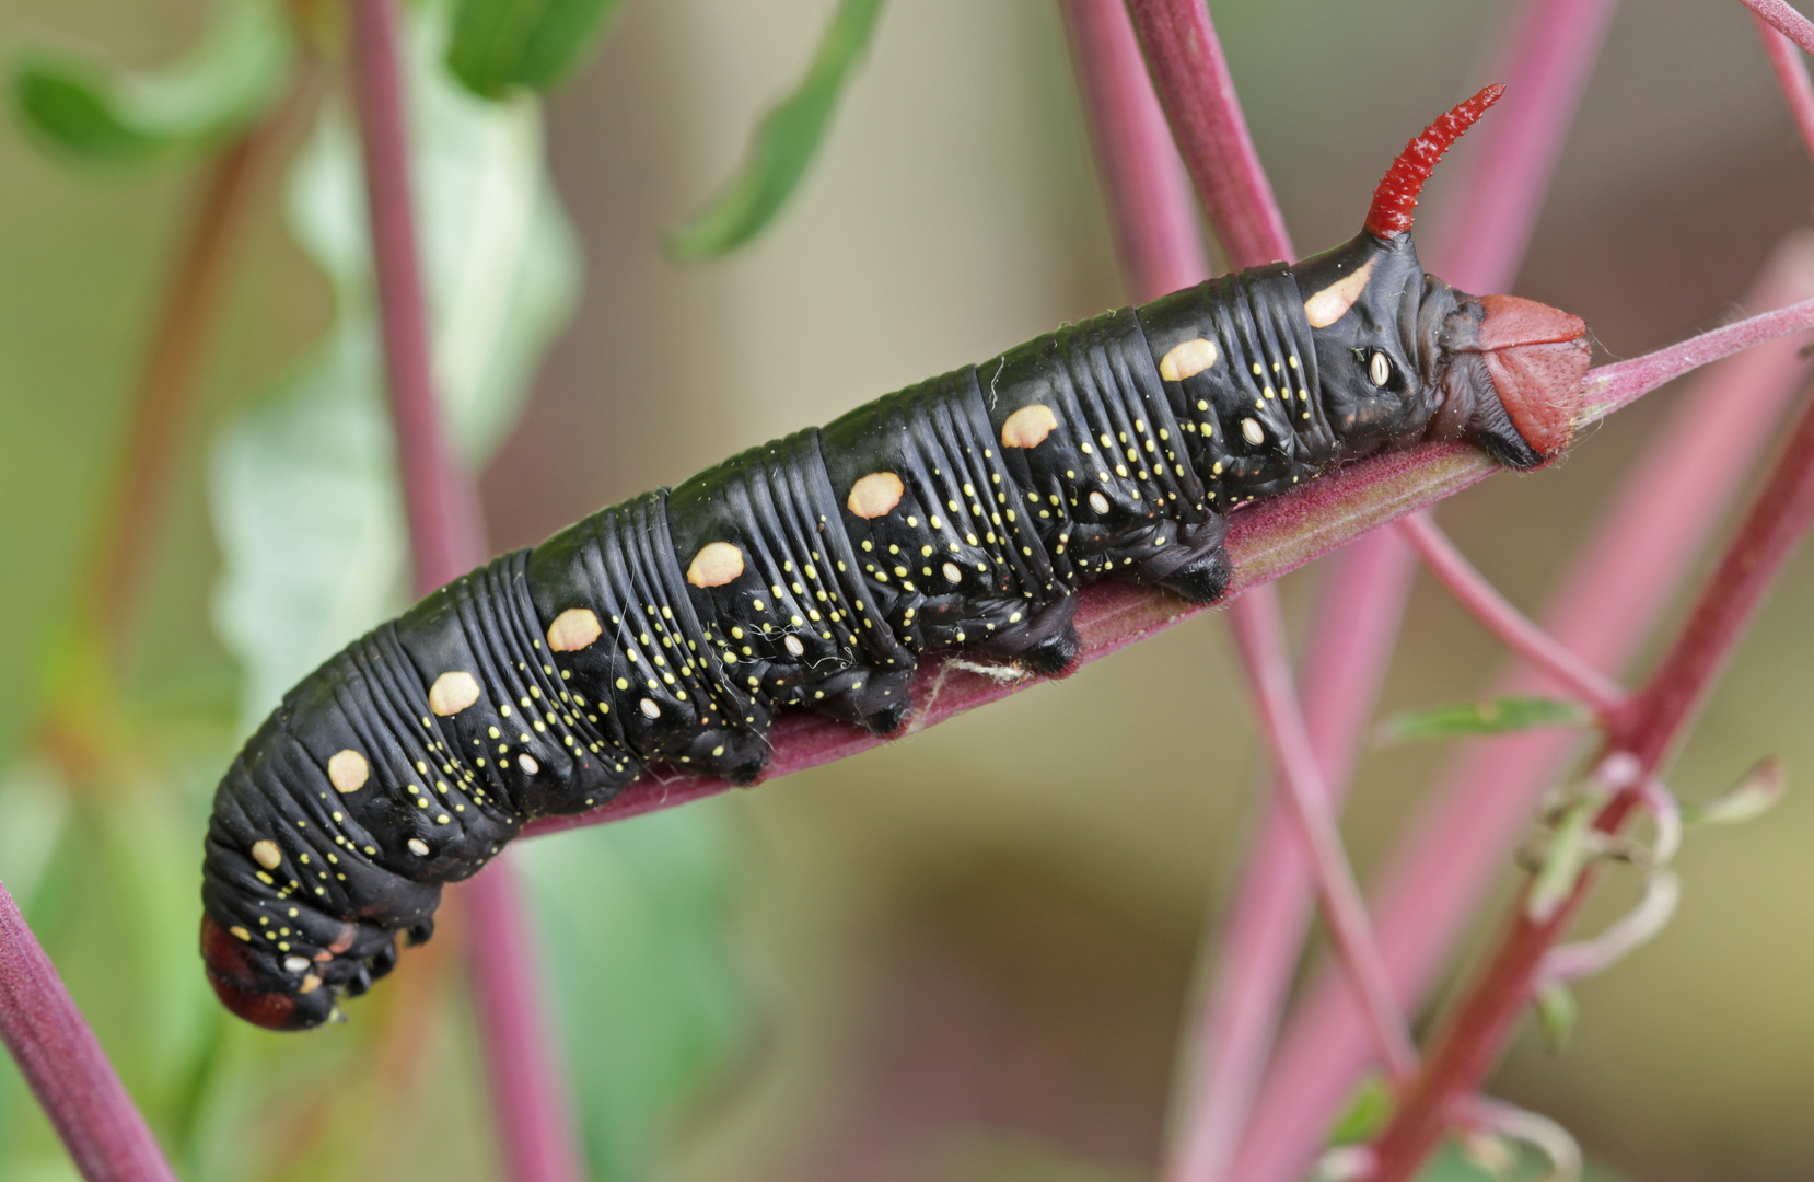
{"type": "MultiPolygon", "coordinates": [[[[1794,236],[1747,296],[1778,307],[1814,296],[1814,236],[1794,236]]],[[[1740,336],[1747,325],[1732,329],[1740,336]]],[[[1814,323],[1810,318],[1809,323],[1814,323]]],[[[1725,345],[1732,345],[1729,329],[1725,345]]],[[[1663,381],[1703,338],[1595,370],[1625,381],[1663,381]]],[[[1718,527],[1731,497],[1774,438],[1789,396],[1807,376],[1801,341],[1783,338],[1723,361],[1685,392],[1669,425],[1625,481],[1613,512],[1582,548],[1555,597],[1546,630],[1600,670],[1624,668],[1669,608],[1674,586],[1718,527]]],[[[1497,692],[1531,692],[1529,674],[1497,692]]],[[[1486,886],[1504,866],[1542,792],[1562,773],[1576,741],[1527,734],[1469,744],[1388,862],[1375,891],[1375,926],[1404,1006],[1428,997],[1486,886]]],[[[1297,1182],[1310,1169],[1368,1064],[1368,1031],[1346,984],[1324,975],[1292,1019],[1261,1086],[1253,1120],[1230,1177],[1297,1182]]]]}

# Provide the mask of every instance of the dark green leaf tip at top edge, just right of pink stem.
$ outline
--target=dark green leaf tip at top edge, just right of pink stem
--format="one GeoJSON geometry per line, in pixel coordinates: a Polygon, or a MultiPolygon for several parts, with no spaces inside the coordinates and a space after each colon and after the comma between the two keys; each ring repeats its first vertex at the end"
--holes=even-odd
{"type": "Polygon", "coordinates": [[[448,69],[475,94],[546,91],[579,64],[620,0],[461,0],[448,69]]]}

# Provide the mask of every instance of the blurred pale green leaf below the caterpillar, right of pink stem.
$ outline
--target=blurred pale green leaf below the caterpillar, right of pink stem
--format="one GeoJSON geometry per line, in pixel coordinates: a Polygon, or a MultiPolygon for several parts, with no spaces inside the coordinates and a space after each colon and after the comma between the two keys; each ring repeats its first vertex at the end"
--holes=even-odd
{"type": "Polygon", "coordinates": [[[726,953],[733,815],[695,806],[517,852],[599,1178],[653,1177],[686,1104],[746,1042],[726,953]]]}

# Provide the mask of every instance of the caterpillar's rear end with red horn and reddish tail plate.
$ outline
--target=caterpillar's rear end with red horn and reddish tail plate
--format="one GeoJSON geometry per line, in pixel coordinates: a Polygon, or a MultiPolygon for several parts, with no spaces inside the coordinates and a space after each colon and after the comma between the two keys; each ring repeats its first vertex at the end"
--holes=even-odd
{"type": "Polygon", "coordinates": [[[1411,211],[1442,153],[1498,100],[1487,87],[1411,140],[1366,227],[1293,272],[1317,340],[1330,423],[1348,454],[1468,438],[1529,468],[1567,447],[1587,372],[1578,316],[1517,296],[1468,296],[1424,274],[1411,211]]]}

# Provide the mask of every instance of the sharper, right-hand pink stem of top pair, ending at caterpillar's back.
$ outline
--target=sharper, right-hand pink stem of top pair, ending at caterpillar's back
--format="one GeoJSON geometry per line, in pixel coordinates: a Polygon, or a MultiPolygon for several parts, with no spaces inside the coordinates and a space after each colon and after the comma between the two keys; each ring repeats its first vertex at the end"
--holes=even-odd
{"type": "Polygon", "coordinates": [[[1230,267],[1295,258],[1203,0],[1128,0],[1154,89],[1230,267]]]}

